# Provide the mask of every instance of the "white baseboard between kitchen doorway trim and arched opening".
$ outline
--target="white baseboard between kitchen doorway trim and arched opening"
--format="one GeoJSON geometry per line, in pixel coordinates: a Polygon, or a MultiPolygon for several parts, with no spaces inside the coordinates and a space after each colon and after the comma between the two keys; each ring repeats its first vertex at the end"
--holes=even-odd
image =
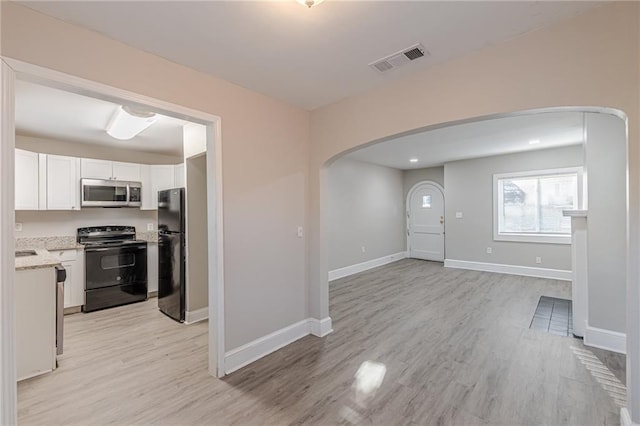
{"type": "Polygon", "coordinates": [[[288,327],[227,352],[224,356],[225,374],[233,373],[272,352],[281,349],[309,334],[324,337],[331,333],[331,318],[322,320],[307,318],[288,327]]]}

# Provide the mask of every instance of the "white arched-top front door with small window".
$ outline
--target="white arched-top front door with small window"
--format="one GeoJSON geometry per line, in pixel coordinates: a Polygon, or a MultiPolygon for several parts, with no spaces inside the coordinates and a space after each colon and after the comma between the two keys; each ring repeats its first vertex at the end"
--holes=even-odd
{"type": "Polygon", "coordinates": [[[409,193],[407,203],[409,257],[444,261],[444,195],[432,183],[409,193]]]}

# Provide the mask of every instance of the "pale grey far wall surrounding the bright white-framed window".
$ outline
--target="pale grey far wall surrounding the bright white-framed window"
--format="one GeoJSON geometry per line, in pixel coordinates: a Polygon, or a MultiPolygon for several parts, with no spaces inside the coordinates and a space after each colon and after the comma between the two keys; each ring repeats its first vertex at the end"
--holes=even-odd
{"type": "Polygon", "coordinates": [[[582,166],[583,158],[582,146],[576,145],[445,164],[447,259],[571,270],[570,244],[493,240],[493,175],[582,166]],[[456,212],[463,217],[457,219],[456,212]],[[535,263],[536,257],[542,258],[541,264],[535,263]]]}

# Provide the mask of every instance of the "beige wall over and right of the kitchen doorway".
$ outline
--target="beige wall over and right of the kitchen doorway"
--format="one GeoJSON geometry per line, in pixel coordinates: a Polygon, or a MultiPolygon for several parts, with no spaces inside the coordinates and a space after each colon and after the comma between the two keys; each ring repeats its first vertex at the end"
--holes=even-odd
{"type": "Polygon", "coordinates": [[[307,317],[309,113],[2,2],[2,55],[222,118],[226,350],[307,317]]]}

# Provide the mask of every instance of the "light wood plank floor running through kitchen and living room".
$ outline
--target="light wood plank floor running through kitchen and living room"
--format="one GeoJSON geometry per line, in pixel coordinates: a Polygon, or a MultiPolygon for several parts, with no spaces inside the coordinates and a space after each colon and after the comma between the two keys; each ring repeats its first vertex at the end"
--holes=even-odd
{"type": "Polygon", "coordinates": [[[569,292],[403,260],[331,283],[334,333],[224,380],[207,375],[206,323],[176,324],[155,299],[71,315],[60,368],[18,385],[19,421],[617,425],[619,407],[581,351],[622,381],[624,356],[529,330],[541,295],[569,292]]]}

